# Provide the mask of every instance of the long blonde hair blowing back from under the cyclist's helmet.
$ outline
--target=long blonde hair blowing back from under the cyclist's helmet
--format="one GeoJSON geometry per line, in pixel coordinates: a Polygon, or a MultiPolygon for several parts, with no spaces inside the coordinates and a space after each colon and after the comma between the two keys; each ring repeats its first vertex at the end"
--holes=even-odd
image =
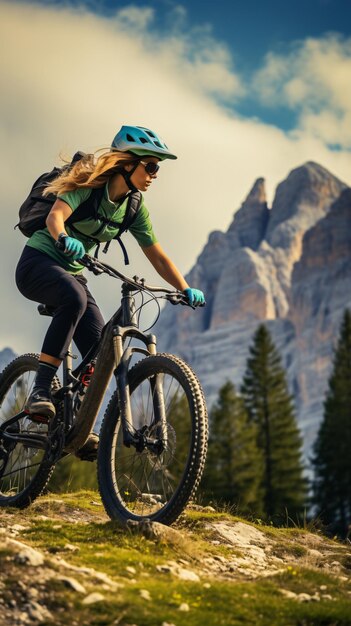
{"type": "Polygon", "coordinates": [[[135,164],[139,158],[130,153],[119,150],[109,150],[96,157],[95,154],[86,154],[72,167],[66,167],[45,189],[44,195],[50,193],[58,195],[67,191],[74,191],[80,187],[103,187],[109,178],[120,173],[125,165],[135,164]]]}

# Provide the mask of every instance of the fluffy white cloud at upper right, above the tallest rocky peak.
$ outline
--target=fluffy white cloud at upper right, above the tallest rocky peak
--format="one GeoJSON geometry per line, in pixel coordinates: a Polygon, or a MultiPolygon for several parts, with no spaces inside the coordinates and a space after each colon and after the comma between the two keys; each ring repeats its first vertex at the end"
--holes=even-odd
{"type": "Polygon", "coordinates": [[[270,53],[254,85],[264,104],[296,110],[303,134],[351,148],[351,38],[330,34],[286,56],[270,53]]]}

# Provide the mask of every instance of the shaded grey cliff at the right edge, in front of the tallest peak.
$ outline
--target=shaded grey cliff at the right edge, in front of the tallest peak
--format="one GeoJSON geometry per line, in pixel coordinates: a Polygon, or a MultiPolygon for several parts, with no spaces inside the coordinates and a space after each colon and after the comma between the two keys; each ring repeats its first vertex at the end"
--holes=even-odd
{"type": "Polygon", "coordinates": [[[308,449],[315,436],[316,415],[322,413],[340,322],[345,309],[351,308],[351,189],[307,231],[289,300],[288,317],[295,329],[290,379],[308,449]]]}

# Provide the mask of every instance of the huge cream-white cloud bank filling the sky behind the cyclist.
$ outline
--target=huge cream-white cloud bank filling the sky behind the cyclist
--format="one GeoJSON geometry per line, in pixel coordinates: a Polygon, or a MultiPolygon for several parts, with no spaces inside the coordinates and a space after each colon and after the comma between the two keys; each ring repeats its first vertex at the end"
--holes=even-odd
{"type": "MultiPolygon", "coordinates": [[[[234,100],[245,85],[209,29],[186,31],[183,25],[180,31],[178,22],[161,37],[152,32],[152,23],[152,14],[138,15],[135,6],[121,19],[118,13],[103,18],[82,9],[0,3],[0,249],[6,301],[0,348],[40,347],[46,322],[37,319],[35,307],[13,282],[25,241],[12,227],[31,182],[61,151],[108,146],[125,123],[159,132],[179,159],[162,165],[146,200],[162,245],[183,272],[209,232],[228,227],[255,178],[266,178],[270,199],[289,170],[307,160],[350,180],[350,154],[330,151],[311,129],[312,120],[305,133],[287,135],[257,120],[236,118],[218,105],[218,96],[234,100]]],[[[282,72],[284,62],[278,59],[279,64],[282,72]]],[[[274,89],[273,79],[269,85],[274,89]]],[[[128,239],[130,274],[155,282],[138,246],[128,239]]],[[[117,246],[110,250],[109,262],[119,263],[117,246]]],[[[106,280],[93,284],[108,315],[115,292],[106,280]]]]}

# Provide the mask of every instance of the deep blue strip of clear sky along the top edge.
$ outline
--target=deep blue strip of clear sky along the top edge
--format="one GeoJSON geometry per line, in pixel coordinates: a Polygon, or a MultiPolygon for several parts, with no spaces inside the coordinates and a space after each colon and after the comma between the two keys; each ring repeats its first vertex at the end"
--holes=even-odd
{"type": "Polygon", "coordinates": [[[169,30],[174,9],[183,6],[189,23],[208,26],[215,38],[227,43],[243,68],[255,67],[267,51],[284,47],[290,41],[327,32],[348,36],[351,31],[349,0],[39,0],[38,4],[84,5],[109,16],[125,6],[152,7],[160,30],[169,30]]]}

